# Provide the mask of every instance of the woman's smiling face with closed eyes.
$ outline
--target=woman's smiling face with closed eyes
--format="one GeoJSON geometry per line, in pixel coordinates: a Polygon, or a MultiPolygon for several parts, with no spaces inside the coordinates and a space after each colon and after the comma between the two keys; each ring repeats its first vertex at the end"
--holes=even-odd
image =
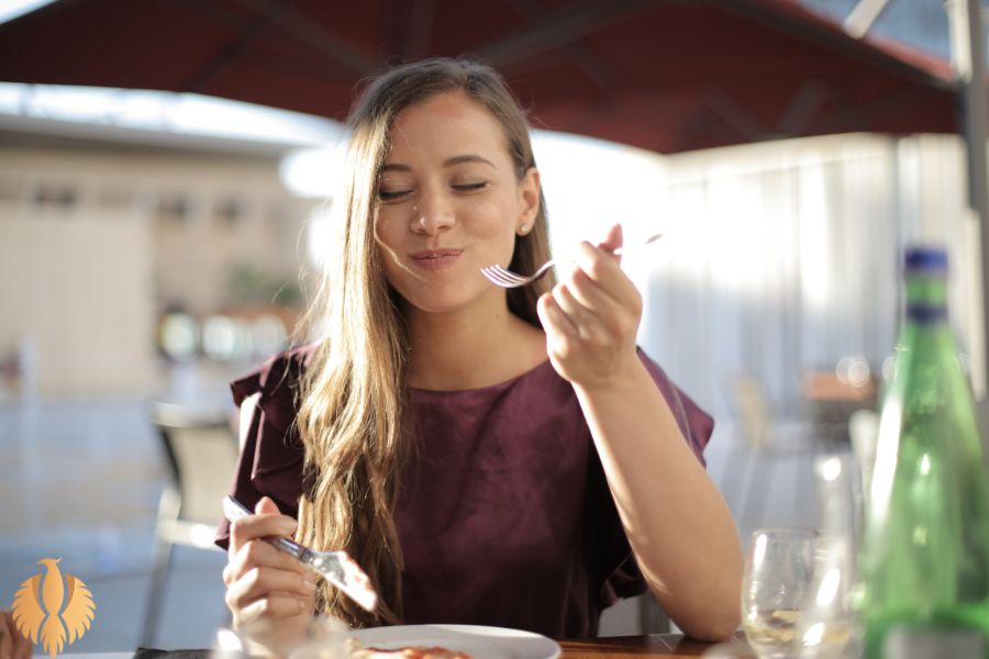
{"type": "Polygon", "coordinates": [[[462,92],[400,112],[390,143],[375,226],[389,283],[426,312],[503,304],[480,269],[507,266],[516,233],[532,228],[536,170],[518,179],[501,124],[462,92]]]}

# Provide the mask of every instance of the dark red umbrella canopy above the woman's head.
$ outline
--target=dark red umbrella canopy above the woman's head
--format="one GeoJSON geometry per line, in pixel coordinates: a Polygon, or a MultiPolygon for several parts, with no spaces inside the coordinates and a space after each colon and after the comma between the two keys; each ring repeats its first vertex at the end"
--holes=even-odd
{"type": "Polygon", "coordinates": [[[536,127],[660,153],[957,127],[945,63],[793,0],[60,0],[0,25],[0,80],[340,120],[387,63],[462,54],[501,70],[536,127]]]}

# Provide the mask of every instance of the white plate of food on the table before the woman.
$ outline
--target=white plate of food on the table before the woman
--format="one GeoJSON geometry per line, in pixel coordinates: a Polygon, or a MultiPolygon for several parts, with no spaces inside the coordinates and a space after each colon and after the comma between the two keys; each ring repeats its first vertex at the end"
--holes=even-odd
{"type": "Polygon", "coordinates": [[[556,641],[520,629],[477,625],[398,625],[354,629],[347,636],[364,647],[392,650],[404,646],[438,646],[474,659],[557,659],[556,641]]]}

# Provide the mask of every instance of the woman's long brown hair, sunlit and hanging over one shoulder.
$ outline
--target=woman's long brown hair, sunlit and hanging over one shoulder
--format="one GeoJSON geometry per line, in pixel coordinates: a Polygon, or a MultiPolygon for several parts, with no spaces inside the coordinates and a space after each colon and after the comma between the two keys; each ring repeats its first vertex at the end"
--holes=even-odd
{"type": "MultiPolygon", "coordinates": [[[[333,206],[337,243],[308,312],[326,338],[321,339],[301,389],[298,424],[305,483],[298,538],[315,548],[346,548],[370,576],[381,599],[375,614],[327,587],[318,592],[320,612],[355,626],[402,617],[403,562],[392,513],[402,468],[412,455],[405,392],[408,330],[375,243],[378,176],[396,116],[435,94],[457,90],[502,125],[519,180],[535,167],[525,113],[490,67],[437,58],[379,75],[348,119],[351,143],[333,206]]],[[[515,237],[511,268],[531,272],[548,256],[541,191],[532,230],[515,237]]],[[[508,308],[540,326],[536,300],[552,286],[546,277],[538,286],[511,289],[508,308]]]]}

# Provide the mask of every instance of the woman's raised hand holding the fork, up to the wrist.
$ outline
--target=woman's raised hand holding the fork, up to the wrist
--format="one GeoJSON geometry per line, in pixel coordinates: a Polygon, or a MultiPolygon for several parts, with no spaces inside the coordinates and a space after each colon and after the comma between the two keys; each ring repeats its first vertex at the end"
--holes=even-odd
{"type": "Polygon", "coordinates": [[[571,271],[540,298],[549,359],[574,384],[608,386],[638,360],[635,334],[642,295],[612,254],[621,245],[618,224],[598,247],[581,243],[571,271]]]}

